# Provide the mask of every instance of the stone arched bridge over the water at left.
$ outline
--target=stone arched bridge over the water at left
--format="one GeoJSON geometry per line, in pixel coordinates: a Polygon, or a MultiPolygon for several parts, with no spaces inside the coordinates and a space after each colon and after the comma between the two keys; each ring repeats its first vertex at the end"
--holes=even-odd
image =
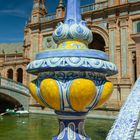
{"type": "Polygon", "coordinates": [[[29,90],[21,83],[0,77],[0,113],[23,106],[28,110],[29,90]]]}

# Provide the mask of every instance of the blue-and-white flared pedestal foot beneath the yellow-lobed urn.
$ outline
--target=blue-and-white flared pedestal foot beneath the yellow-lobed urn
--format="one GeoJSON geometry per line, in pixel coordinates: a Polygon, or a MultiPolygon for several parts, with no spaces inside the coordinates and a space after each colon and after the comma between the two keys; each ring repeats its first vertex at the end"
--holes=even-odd
{"type": "Polygon", "coordinates": [[[91,140],[84,131],[85,116],[58,115],[59,135],[53,140],[91,140]]]}

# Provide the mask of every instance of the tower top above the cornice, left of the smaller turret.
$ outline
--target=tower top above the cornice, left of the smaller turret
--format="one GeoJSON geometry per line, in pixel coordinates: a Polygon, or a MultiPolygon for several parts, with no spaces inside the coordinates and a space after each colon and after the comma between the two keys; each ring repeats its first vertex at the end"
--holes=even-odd
{"type": "Polygon", "coordinates": [[[46,19],[47,10],[44,0],[34,0],[31,15],[31,23],[43,22],[46,19]]]}

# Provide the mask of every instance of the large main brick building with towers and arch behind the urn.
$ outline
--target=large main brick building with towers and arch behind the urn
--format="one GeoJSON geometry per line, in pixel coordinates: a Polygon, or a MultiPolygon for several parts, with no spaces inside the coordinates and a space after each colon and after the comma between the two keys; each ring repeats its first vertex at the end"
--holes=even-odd
{"type": "MultiPolygon", "coordinates": [[[[139,7],[140,0],[95,0],[81,7],[82,17],[93,33],[89,48],[105,51],[118,68],[118,74],[109,78],[114,83],[114,93],[104,107],[120,108],[140,74],[139,7]]],[[[59,0],[54,14],[47,13],[44,0],[33,1],[24,30],[23,58],[26,63],[21,64],[24,70],[36,53],[57,48],[52,33],[57,24],[63,22],[64,13],[63,0],[59,0]]],[[[24,78],[27,84],[31,76],[25,72],[24,78]]]]}

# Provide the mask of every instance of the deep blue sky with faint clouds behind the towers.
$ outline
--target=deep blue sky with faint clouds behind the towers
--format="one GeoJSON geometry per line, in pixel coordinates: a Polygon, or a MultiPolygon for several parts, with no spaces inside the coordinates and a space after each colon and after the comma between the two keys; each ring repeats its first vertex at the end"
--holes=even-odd
{"type": "MultiPolygon", "coordinates": [[[[81,5],[93,1],[81,0],[81,5]]],[[[45,1],[48,13],[55,12],[58,2],[45,1]]],[[[23,42],[24,27],[31,15],[32,5],[33,0],[0,0],[0,43],[23,42]]]]}

